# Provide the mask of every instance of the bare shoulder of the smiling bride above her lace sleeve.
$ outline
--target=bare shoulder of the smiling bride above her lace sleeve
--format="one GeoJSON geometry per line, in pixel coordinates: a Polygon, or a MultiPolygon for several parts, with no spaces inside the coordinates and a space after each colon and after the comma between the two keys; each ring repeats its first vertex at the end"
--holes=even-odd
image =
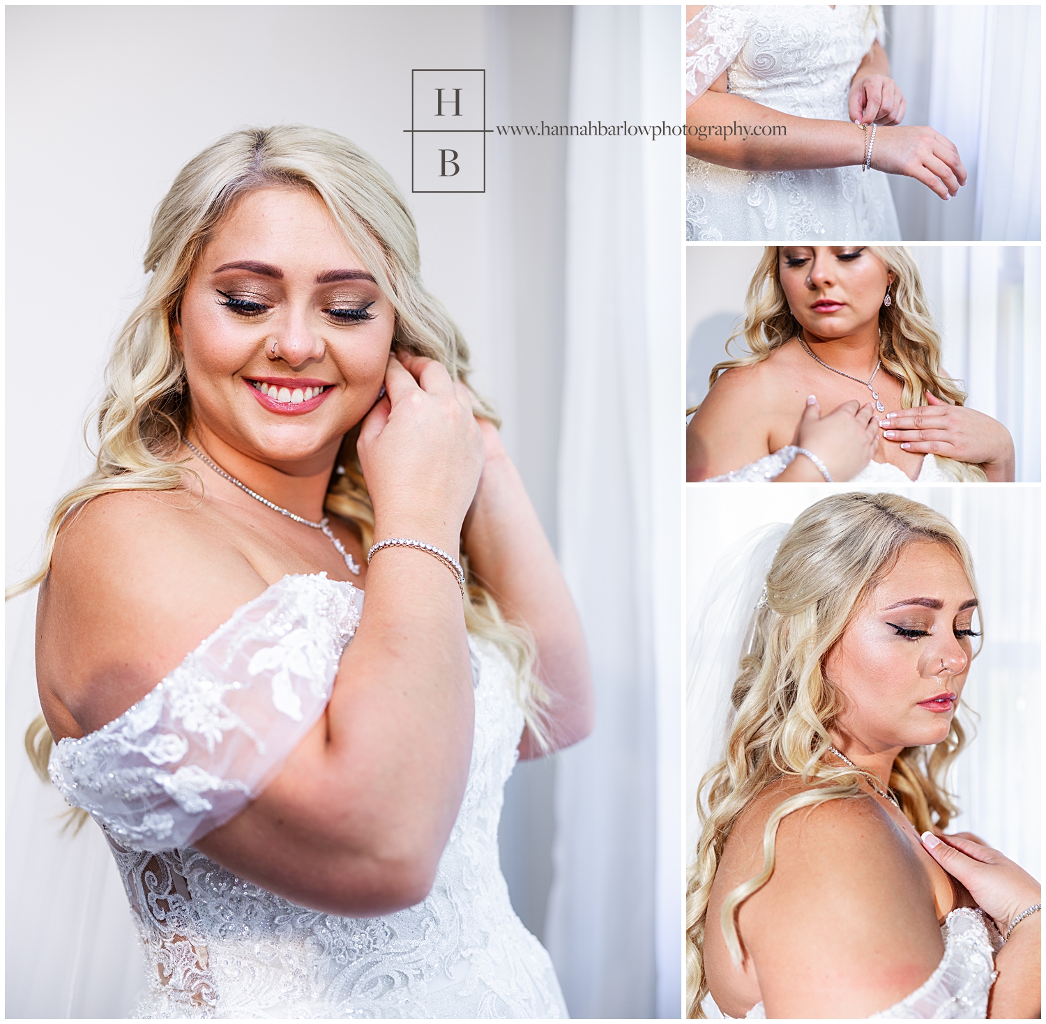
{"type": "Polygon", "coordinates": [[[40,588],[37,681],[48,723],[74,734],[70,716],[84,733],[117,718],[263,590],[186,492],[86,502],[63,524],[40,588]]]}

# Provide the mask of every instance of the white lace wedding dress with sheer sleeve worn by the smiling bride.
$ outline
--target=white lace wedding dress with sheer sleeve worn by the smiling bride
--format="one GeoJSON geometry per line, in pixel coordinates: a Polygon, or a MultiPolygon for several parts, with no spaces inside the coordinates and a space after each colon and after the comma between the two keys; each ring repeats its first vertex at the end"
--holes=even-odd
{"type": "Polygon", "coordinates": [[[499,866],[523,714],[508,662],[490,642],[470,638],[472,764],[423,903],[338,917],[246,882],[192,846],[260,792],[322,714],[362,599],[324,573],[286,576],[118,719],[55,745],[51,778],[101,825],[141,936],[152,981],[133,1016],[567,1016],[499,866]]]}

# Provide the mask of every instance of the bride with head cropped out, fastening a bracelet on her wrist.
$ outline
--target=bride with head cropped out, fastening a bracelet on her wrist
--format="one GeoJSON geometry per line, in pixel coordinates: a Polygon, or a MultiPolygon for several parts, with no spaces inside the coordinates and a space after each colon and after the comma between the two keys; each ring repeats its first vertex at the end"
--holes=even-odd
{"type": "Polygon", "coordinates": [[[710,4],[687,19],[687,241],[896,242],[879,172],[945,200],[965,184],[949,139],[901,127],[882,7],[710,4]]]}

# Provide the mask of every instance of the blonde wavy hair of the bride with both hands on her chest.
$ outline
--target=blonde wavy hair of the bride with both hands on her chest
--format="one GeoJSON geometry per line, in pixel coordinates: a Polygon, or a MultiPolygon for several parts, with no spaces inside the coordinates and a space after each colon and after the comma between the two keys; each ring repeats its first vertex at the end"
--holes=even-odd
{"type": "MultiPolygon", "coordinates": [[[[923,277],[911,254],[903,246],[867,246],[893,272],[889,305],[879,308],[879,356],[883,369],[901,381],[901,405],[905,409],[925,406],[929,390],[951,405],[962,405],[965,392],[940,366],[941,338],[930,315],[923,288],[923,277]]],[[[780,279],[780,246],[767,246],[752,274],[745,296],[744,323],[727,339],[727,355],[737,338],[744,338],[747,351],[717,363],[708,376],[711,387],[724,370],[735,366],[754,366],[791,341],[799,333],[799,321],[792,315],[780,279]]],[[[690,412],[692,410],[687,410],[690,412]]],[[[955,459],[937,458],[962,481],[987,480],[979,465],[955,459]]]]}

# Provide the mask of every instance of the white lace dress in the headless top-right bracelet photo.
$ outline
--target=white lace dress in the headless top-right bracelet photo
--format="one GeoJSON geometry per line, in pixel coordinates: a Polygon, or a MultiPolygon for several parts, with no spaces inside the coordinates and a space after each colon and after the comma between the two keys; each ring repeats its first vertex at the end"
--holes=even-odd
{"type": "MultiPolygon", "coordinates": [[[[878,6],[709,4],[686,26],[687,105],[726,71],[730,92],[764,107],[849,121],[850,79],[882,23],[878,6]]],[[[686,238],[896,242],[901,229],[881,172],[734,170],[688,156],[686,238]]]]}

